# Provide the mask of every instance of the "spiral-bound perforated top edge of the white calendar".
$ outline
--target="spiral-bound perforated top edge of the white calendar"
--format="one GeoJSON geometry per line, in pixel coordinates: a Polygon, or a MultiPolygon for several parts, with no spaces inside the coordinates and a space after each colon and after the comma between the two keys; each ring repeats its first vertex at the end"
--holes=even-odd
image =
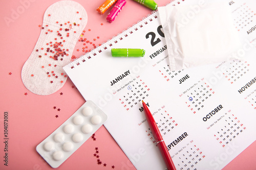
{"type": "MultiPolygon", "coordinates": [[[[167,3],[165,6],[172,4],[175,1],[176,0],[171,1],[170,3],[167,3]]],[[[175,4],[180,4],[180,2],[183,2],[183,1],[185,0],[179,0],[175,2],[173,5],[175,6],[175,4]]],[[[100,46],[97,46],[96,48],[91,50],[89,53],[80,56],[78,59],[75,59],[73,62],[70,62],[71,68],[73,69],[76,66],[80,65],[80,63],[86,62],[86,59],[84,56],[87,56],[88,59],[92,58],[91,56],[96,56],[97,53],[99,54],[102,52],[102,50],[106,50],[108,49],[108,47],[111,47],[113,43],[118,43],[118,41],[121,41],[123,38],[129,36],[130,34],[133,34],[134,31],[138,31],[139,28],[142,28],[144,25],[147,25],[148,22],[151,22],[153,21],[153,19],[158,18],[156,11],[153,11],[151,14],[148,14],[146,17],[143,17],[141,20],[135,23],[132,27],[127,28],[127,30],[124,30],[122,33],[118,33],[117,36],[113,36],[112,39],[108,39],[106,42],[103,42],[100,46]]]]}

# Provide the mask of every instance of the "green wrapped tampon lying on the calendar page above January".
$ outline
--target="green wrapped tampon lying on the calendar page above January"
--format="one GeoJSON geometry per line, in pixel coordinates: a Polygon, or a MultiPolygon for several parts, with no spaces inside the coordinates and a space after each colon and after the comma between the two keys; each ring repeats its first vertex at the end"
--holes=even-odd
{"type": "Polygon", "coordinates": [[[112,48],[113,57],[143,57],[145,50],[138,48],[112,48]]]}

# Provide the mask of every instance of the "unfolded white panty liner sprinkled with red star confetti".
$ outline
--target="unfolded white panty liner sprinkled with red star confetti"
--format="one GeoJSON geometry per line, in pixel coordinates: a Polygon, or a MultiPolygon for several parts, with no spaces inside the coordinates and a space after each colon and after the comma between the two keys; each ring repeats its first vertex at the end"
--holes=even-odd
{"type": "Polygon", "coordinates": [[[39,95],[59,90],[67,75],[75,44],[88,20],[86,10],[73,1],[59,1],[45,12],[40,36],[22,69],[26,88],[39,95]]]}

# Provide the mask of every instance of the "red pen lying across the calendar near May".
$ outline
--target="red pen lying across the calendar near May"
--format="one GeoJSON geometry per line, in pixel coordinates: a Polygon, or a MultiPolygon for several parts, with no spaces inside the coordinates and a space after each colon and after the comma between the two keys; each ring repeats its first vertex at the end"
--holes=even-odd
{"type": "Polygon", "coordinates": [[[148,109],[148,107],[146,106],[144,101],[142,101],[142,106],[143,106],[143,109],[144,109],[144,112],[146,115],[147,122],[150,125],[150,129],[156,139],[157,145],[160,149],[160,152],[163,156],[164,162],[165,162],[168,170],[176,170],[176,168],[174,166],[174,162],[173,162],[172,158],[170,157],[170,154],[166,148],[166,145],[163,141],[163,137],[157,127],[157,124],[155,122],[153,115],[151,114],[150,110],[148,109]]]}

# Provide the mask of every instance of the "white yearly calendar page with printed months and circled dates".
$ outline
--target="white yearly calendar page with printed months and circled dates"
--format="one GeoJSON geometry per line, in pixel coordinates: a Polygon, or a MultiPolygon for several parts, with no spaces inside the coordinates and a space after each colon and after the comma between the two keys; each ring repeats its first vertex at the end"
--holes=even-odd
{"type": "Polygon", "coordinates": [[[137,169],[166,168],[142,100],[177,169],[221,169],[255,141],[256,4],[228,3],[243,44],[234,55],[243,60],[170,71],[156,12],[64,67],[108,115],[104,126],[137,169]],[[111,48],[143,48],[145,56],[113,58],[111,48]]]}

